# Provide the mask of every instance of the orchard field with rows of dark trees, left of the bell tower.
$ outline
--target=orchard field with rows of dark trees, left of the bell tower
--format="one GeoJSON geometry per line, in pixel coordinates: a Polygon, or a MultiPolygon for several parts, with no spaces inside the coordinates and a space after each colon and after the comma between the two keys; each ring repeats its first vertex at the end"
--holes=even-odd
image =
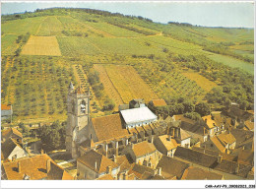
{"type": "Polygon", "coordinates": [[[67,88],[73,76],[56,57],[2,57],[2,103],[11,103],[18,119],[66,119],[67,88]]]}

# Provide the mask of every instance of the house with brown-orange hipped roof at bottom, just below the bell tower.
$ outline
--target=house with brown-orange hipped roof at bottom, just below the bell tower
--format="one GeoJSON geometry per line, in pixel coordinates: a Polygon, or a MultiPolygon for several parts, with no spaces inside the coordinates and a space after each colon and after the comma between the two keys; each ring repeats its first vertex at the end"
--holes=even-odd
{"type": "Polygon", "coordinates": [[[77,175],[80,180],[95,180],[106,174],[117,179],[119,170],[120,165],[94,150],[77,158],[77,175]]]}

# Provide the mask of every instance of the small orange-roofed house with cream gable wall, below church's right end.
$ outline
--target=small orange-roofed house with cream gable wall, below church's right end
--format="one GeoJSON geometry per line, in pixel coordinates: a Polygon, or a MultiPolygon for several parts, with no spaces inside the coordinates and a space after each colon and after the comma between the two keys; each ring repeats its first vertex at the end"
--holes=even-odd
{"type": "Polygon", "coordinates": [[[173,157],[177,146],[179,146],[175,139],[172,139],[170,135],[157,136],[154,140],[154,145],[158,151],[167,157],[173,157]]]}

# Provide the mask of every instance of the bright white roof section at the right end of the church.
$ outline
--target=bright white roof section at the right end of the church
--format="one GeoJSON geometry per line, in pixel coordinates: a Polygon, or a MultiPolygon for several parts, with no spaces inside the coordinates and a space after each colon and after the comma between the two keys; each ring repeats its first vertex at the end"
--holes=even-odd
{"type": "Polygon", "coordinates": [[[133,109],[125,109],[120,111],[126,124],[137,123],[147,120],[157,119],[148,107],[139,107],[133,109]]]}

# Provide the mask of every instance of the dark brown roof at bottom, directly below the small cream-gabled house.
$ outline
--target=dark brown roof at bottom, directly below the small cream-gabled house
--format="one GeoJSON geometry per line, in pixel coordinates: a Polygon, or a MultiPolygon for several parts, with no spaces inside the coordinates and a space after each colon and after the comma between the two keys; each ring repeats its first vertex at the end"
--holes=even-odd
{"type": "Polygon", "coordinates": [[[173,178],[176,176],[177,178],[181,178],[184,170],[189,166],[188,163],[182,162],[180,160],[166,157],[165,155],[160,158],[160,162],[157,168],[161,167],[161,174],[164,178],[173,178]]]}

